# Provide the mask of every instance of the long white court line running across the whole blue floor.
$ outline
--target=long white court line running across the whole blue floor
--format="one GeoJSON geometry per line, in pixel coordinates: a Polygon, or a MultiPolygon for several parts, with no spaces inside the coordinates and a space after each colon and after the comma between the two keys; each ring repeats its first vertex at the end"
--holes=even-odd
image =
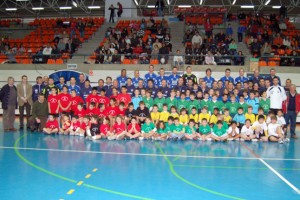
{"type": "MultiPolygon", "coordinates": [[[[0,149],[19,149],[32,151],[56,151],[69,153],[91,153],[91,154],[110,154],[110,155],[129,155],[129,156],[153,156],[153,157],[180,157],[180,158],[208,158],[208,159],[237,159],[237,160],[258,160],[256,157],[217,157],[217,156],[193,156],[193,155],[176,155],[176,154],[147,154],[147,153],[120,153],[120,152],[99,152],[99,151],[81,151],[81,150],[64,150],[64,149],[41,149],[41,148],[24,148],[24,147],[5,147],[0,146],[0,149]]],[[[264,160],[283,160],[283,161],[300,161],[300,159],[285,159],[285,158],[263,158],[264,160]]]]}

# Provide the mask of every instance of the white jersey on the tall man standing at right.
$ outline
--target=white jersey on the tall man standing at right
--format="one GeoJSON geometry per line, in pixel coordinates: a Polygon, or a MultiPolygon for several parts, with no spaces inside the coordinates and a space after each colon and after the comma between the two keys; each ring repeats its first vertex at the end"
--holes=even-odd
{"type": "Polygon", "coordinates": [[[267,97],[270,98],[271,109],[282,109],[282,102],[286,100],[286,93],[283,87],[273,85],[268,88],[267,97]]]}

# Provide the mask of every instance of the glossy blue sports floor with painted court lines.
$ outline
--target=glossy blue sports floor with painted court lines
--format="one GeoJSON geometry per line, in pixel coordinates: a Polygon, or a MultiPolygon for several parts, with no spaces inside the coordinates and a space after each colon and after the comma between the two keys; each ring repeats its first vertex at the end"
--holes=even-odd
{"type": "Polygon", "coordinates": [[[92,142],[1,131],[0,180],[1,200],[293,200],[300,199],[300,139],[92,142]]]}

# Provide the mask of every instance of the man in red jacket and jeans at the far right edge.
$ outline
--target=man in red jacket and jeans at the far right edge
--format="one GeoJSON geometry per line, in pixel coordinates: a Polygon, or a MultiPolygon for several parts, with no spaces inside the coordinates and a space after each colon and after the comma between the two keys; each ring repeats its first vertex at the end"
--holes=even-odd
{"type": "Polygon", "coordinates": [[[291,138],[297,139],[295,130],[297,115],[300,112],[300,94],[297,94],[296,85],[294,84],[290,86],[290,90],[287,92],[287,100],[283,110],[287,126],[290,124],[291,138]]]}

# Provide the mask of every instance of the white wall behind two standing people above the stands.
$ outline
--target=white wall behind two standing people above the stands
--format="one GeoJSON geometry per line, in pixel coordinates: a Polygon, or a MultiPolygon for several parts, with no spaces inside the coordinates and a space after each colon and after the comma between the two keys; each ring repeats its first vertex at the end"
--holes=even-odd
{"type": "MultiPolygon", "coordinates": [[[[118,8],[117,5],[118,2],[120,2],[123,5],[122,17],[127,17],[127,18],[137,17],[136,5],[132,0],[109,0],[109,1],[105,1],[105,19],[107,21],[109,20],[109,16],[110,16],[110,11],[108,10],[110,5],[113,4],[115,8],[118,8]]],[[[115,22],[116,22],[118,20],[117,10],[115,12],[116,12],[116,17],[115,17],[115,22]]]]}

